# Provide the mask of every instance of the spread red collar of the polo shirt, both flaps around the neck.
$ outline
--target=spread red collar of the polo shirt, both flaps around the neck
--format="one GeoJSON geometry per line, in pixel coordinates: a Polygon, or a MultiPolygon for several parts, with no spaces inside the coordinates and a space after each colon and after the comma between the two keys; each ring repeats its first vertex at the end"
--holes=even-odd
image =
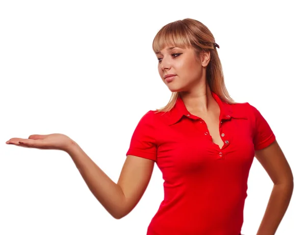
{"type": "MultiPolygon", "coordinates": [[[[231,118],[235,119],[247,119],[247,116],[245,113],[243,113],[243,110],[238,109],[237,107],[233,107],[233,104],[228,104],[224,101],[222,101],[219,96],[212,91],[213,98],[217,101],[219,107],[220,107],[220,117],[219,121],[222,120],[231,120],[231,118]]],[[[179,122],[183,116],[189,117],[190,119],[198,119],[198,117],[192,115],[186,108],[182,98],[180,95],[177,97],[177,100],[175,102],[174,107],[167,113],[165,113],[167,116],[167,123],[168,125],[173,125],[177,122],[179,122]]]]}

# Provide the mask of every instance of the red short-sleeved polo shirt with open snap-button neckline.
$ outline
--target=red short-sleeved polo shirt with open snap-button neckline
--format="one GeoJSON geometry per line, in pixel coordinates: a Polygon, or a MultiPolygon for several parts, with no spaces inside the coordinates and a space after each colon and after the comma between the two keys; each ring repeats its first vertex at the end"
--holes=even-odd
{"type": "Polygon", "coordinates": [[[254,151],[275,140],[261,113],[249,103],[220,107],[220,149],[206,123],[179,97],[169,112],[148,111],[126,155],[156,161],[164,200],[147,235],[238,235],[243,224],[247,179],[254,151]]]}

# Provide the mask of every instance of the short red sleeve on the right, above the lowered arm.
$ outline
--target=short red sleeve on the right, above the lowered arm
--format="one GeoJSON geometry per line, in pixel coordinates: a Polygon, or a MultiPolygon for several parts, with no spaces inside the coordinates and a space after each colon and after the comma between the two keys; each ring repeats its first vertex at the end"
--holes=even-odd
{"type": "Polygon", "coordinates": [[[272,144],[275,140],[275,135],[260,111],[254,106],[250,106],[254,115],[253,144],[254,150],[257,151],[272,144]]]}

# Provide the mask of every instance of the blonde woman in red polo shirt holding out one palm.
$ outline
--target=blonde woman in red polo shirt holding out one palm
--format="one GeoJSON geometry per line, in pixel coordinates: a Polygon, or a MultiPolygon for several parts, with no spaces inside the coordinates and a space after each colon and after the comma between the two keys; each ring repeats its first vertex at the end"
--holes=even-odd
{"type": "Polygon", "coordinates": [[[153,50],[172,96],[164,108],[148,111],[139,121],[117,183],[64,134],[11,138],[7,144],[66,151],[116,219],[137,205],[156,162],[165,198],[147,235],[241,234],[256,156],[274,183],[257,234],[274,234],[292,195],[292,172],[261,113],[228,95],[216,48],[210,30],[194,19],[171,22],[158,32],[153,50]]]}

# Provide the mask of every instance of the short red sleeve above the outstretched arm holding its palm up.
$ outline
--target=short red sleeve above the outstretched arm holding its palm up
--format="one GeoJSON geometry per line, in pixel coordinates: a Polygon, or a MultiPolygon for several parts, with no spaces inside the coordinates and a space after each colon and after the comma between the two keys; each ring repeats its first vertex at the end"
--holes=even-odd
{"type": "Polygon", "coordinates": [[[134,155],[157,161],[156,127],[153,111],[142,116],[131,138],[127,155],[134,155]]]}

